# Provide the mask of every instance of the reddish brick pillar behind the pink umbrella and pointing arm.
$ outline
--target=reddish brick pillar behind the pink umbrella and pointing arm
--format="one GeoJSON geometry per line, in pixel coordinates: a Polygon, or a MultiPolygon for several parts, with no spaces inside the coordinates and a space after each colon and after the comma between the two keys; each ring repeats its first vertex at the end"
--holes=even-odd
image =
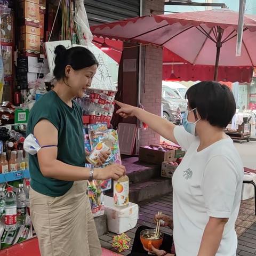
{"type": "MultiPolygon", "coordinates": [[[[144,0],[143,15],[163,14],[164,0],[144,0]]],[[[144,64],[141,60],[141,65],[144,64]]],[[[163,50],[161,47],[146,46],[145,49],[145,83],[141,82],[141,103],[145,110],[161,116],[163,50]]],[[[144,74],[141,74],[144,77],[144,74]]],[[[145,146],[159,143],[160,135],[147,129],[140,130],[139,145],[145,146]]]]}

